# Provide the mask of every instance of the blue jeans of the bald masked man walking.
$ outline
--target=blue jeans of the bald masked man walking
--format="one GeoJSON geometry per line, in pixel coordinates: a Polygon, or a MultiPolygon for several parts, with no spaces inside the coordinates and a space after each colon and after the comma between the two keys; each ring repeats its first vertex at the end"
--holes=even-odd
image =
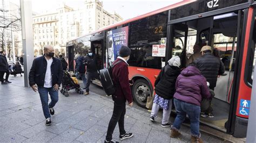
{"type": "Polygon", "coordinates": [[[54,90],[53,87],[51,88],[44,88],[44,87],[38,87],[38,92],[41,98],[41,103],[42,103],[42,107],[43,107],[43,112],[44,112],[44,117],[46,118],[50,118],[50,111],[49,108],[53,108],[55,106],[55,104],[58,102],[58,90],[54,90]],[[48,105],[48,92],[49,95],[51,96],[51,102],[48,105]]]}

